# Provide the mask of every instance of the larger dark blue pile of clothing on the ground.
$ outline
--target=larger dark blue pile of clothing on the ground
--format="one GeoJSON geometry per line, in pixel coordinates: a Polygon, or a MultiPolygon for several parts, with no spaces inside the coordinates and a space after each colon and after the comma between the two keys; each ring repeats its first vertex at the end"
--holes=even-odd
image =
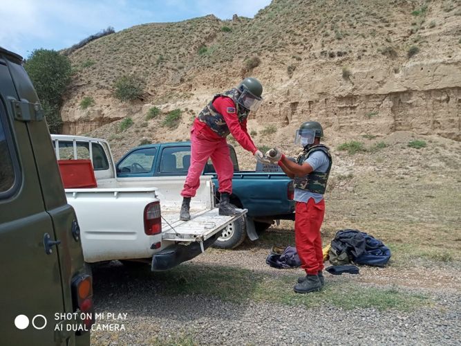
{"type": "Polygon", "coordinates": [[[359,230],[339,230],[328,253],[330,263],[340,266],[348,263],[385,266],[391,259],[391,250],[379,239],[359,230]]]}

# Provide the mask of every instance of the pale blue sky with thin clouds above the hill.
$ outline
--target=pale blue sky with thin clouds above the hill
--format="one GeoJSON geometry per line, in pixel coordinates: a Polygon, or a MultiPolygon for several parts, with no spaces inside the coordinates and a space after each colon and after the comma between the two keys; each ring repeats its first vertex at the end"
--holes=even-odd
{"type": "Polygon", "coordinates": [[[27,58],[68,48],[113,27],[215,15],[254,17],[270,0],[0,0],[0,46],[27,58]]]}

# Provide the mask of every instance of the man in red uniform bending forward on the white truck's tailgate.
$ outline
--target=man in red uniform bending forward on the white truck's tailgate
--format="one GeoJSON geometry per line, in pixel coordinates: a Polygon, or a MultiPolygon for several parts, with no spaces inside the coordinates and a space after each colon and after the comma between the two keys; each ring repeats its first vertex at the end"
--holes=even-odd
{"type": "Polygon", "coordinates": [[[189,220],[191,197],[196,195],[200,185],[203,167],[211,157],[218,174],[220,192],[219,214],[241,213],[229,203],[232,194],[234,165],[230,158],[226,137],[232,134],[237,142],[251,152],[257,161],[267,162],[263,153],[256,148],[247,131],[250,111],[256,111],[263,98],[263,86],[256,78],[245,78],[236,88],[214,95],[213,100],[200,111],[191,129],[191,165],[181,191],[181,220],[189,220]]]}

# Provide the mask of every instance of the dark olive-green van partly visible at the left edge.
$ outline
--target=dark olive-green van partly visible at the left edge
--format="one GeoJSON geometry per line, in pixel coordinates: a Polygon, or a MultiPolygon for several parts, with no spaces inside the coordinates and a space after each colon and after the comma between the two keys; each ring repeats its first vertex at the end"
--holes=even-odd
{"type": "Polygon", "coordinates": [[[90,345],[91,319],[62,318],[93,309],[77,217],[22,58],[1,47],[0,250],[2,344],[90,345]]]}

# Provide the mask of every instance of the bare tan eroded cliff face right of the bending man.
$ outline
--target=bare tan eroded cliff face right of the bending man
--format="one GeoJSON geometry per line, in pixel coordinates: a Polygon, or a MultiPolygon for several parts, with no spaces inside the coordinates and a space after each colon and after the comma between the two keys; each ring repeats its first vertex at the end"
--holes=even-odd
{"type": "Polygon", "coordinates": [[[258,121],[286,126],[315,118],[351,135],[414,131],[461,140],[461,62],[418,62],[399,71],[351,69],[348,78],[336,72],[277,89],[258,111],[258,121]]]}

